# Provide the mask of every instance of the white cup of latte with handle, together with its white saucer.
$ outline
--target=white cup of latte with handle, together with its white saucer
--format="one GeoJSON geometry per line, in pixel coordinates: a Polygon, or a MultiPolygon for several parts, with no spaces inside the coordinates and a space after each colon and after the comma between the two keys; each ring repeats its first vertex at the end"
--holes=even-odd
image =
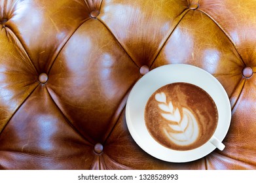
{"type": "MultiPolygon", "coordinates": [[[[194,86],[191,87],[196,88],[194,86]]],[[[187,90],[187,92],[193,90],[187,90]]],[[[151,117],[149,117],[149,119],[151,119],[151,117]]],[[[225,145],[222,141],[229,130],[230,119],[231,108],[229,97],[220,82],[207,71],[186,64],[163,65],[149,71],[149,73],[142,76],[136,82],[126,103],[126,124],[134,141],[151,156],[175,163],[200,159],[210,154],[216,148],[223,150],[225,145]],[[170,90],[165,93],[166,101],[164,101],[165,99],[157,101],[156,98],[159,100],[160,94],[158,97],[155,95],[164,92],[164,90],[156,91],[174,83],[185,83],[185,88],[189,87],[189,84],[197,86],[199,89],[193,90],[198,90],[199,94],[190,94],[194,97],[189,97],[187,102],[183,103],[182,98],[185,99],[186,97],[184,96],[189,95],[189,93],[182,94],[181,92],[177,92],[179,90],[175,89],[179,97],[174,97],[175,93],[171,92],[168,94],[170,91],[175,91],[170,88],[170,90]],[[201,90],[204,91],[202,92],[201,90]],[[200,107],[200,102],[195,103],[196,98],[200,96],[208,98],[201,100],[208,101],[202,103],[204,107],[200,107]],[[149,101],[151,101],[151,105],[153,106],[147,106],[149,101]],[[170,105],[170,101],[172,105],[170,105]],[[207,107],[208,105],[211,109],[207,107]],[[155,108],[155,110],[149,108],[155,108]],[[165,110],[167,110],[167,112],[165,110]],[[172,115],[162,115],[162,113],[168,114],[168,110],[172,110],[172,115]],[[211,117],[209,118],[207,114],[211,114],[211,117]],[[147,117],[145,116],[150,115],[152,115],[152,119],[155,118],[155,120],[147,122],[147,117]],[[161,123],[161,120],[166,120],[164,116],[169,120],[161,123]],[[176,118],[176,120],[174,120],[174,118],[176,118]],[[174,122],[171,122],[172,120],[174,120],[174,122]],[[186,127],[186,121],[198,122],[198,133],[192,133],[194,136],[187,138],[187,141],[184,141],[183,144],[175,144],[172,141],[168,142],[170,141],[169,139],[172,138],[172,133],[181,131],[177,129],[177,123],[182,122],[181,127],[186,127]],[[202,125],[202,122],[206,124],[202,125]],[[165,130],[163,130],[164,125],[165,130]],[[217,127],[215,127],[216,125],[217,127]],[[154,131],[156,133],[155,135],[153,134],[154,131]],[[163,133],[166,133],[167,137],[163,138],[166,136],[163,135],[163,133]],[[203,135],[200,135],[201,133],[203,135]],[[171,137],[168,138],[168,135],[171,137]],[[201,140],[198,141],[198,139],[201,140]]],[[[189,124],[189,127],[196,126],[191,122],[189,124]]],[[[181,134],[176,134],[175,137],[179,137],[179,135],[181,134]]],[[[181,139],[176,138],[176,140],[182,141],[182,135],[180,138],[181,139]]]]}

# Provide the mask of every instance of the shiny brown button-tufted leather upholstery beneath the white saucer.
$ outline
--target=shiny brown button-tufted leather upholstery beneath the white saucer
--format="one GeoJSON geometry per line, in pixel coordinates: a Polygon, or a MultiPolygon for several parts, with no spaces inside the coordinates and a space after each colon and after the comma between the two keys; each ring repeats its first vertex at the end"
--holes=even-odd
{"type": "Polygon", "coordinates": [[[256,169],[256,1],[0,0],[0,169],[256,169]],[[223,84],[223,152],[145,153],[125,120],[132,86],[187,63],[223,84]]]}

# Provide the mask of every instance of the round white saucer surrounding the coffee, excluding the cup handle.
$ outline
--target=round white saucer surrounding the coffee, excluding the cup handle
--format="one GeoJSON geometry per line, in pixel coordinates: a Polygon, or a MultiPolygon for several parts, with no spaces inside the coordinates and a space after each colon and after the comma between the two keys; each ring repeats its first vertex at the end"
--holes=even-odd
{"type": "Polygon", "coordinates": [[[211,142],[199,148],[186,151],[177,151],[166,148],[151,137],[144,121],[144,109],[151,95],[166,84],[173,82],[187,82],[199,86],[208,92],[215,101],[219,114],[219,122],[214,136],[223,141],[229,130],[231,108],[229,97],[223,86],[210,73],[185,64],[164,65],[153,69],[137,81],[130,92],[126,104],[126,123],[132,138],[148,154],[155,158],[170,162],[188,162],[200,159],[213,150],[211,142]]]}

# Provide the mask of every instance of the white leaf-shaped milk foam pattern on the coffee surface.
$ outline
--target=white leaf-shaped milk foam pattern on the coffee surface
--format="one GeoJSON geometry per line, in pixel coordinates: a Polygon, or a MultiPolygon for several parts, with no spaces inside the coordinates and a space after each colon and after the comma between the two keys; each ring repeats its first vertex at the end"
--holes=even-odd
{"type": "Polygon", "coordinates": [[[179,108],[174,107],[172,101],[166,101],[164,92],[156,93],[155,99],[159,103],[158,107],[165,119],[164,122],[168,123],[168,127],[163,129],[166,137],[179,146],[186,146],[196,141],[199,127],[192,111],[182,107],[181,113],[179,108]]]}

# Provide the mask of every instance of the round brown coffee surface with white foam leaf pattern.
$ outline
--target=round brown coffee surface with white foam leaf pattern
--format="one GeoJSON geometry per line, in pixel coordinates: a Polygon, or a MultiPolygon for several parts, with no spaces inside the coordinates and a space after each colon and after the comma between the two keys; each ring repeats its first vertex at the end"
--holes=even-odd
{"type": "Polygon", "coordinates": [[[217,107],[193,84],[177,82],[156,90],[147,101],[145,125],[151,136],[174,150],[192,150],[207,142],[217,127],[217,107]]]}

